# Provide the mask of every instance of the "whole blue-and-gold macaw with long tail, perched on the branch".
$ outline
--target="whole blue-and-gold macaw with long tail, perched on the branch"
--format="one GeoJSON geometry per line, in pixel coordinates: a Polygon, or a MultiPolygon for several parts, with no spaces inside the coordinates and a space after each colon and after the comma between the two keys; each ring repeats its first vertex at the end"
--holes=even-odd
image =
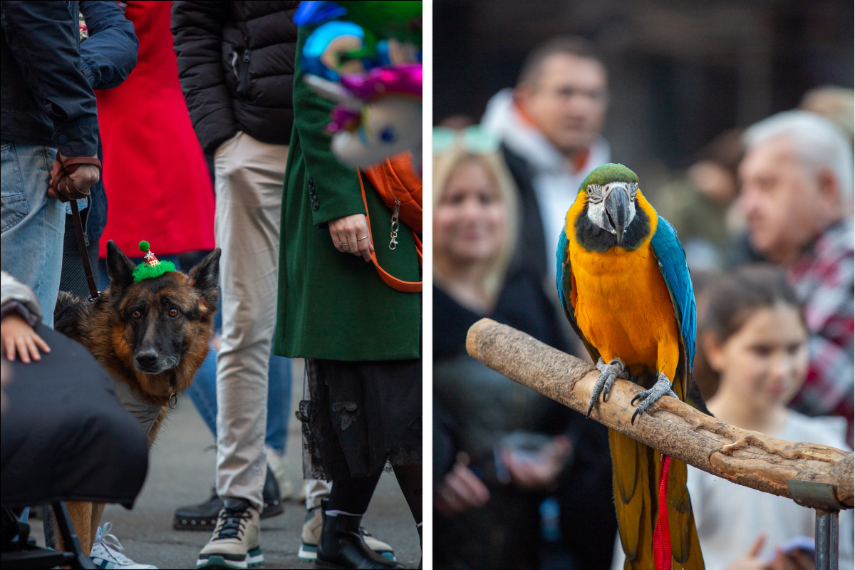
{"type": "MultiPolygon", "coordinates": [[[[629,168],[604,164],[582,182],[558,239],[557,282],[567,318],[600,371],[588,414],[624,370],[646,388],[633,398],[641,400],[633,422],[659,397],[687,400],[695,302],[686,255],[629,168]]],[[[653,568],[660,453],[614,431],[609,443],[625,567],[653,568]]],[[[686,472],[685,463],[670,461],[671,557],[674,568],[703,568],[686,472]]]]}

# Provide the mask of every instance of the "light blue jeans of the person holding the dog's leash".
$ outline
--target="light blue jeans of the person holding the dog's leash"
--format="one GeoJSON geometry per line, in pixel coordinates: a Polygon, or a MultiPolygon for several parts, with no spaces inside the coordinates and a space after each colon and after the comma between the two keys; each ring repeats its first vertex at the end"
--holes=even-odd
{"type": "Polygon", "coordinates": [[[42,322],[52,328],[65,235],[65,209],[47,195],[56,149],[11,143],[0,155],[0,269],[35,292],[42,322]]]}

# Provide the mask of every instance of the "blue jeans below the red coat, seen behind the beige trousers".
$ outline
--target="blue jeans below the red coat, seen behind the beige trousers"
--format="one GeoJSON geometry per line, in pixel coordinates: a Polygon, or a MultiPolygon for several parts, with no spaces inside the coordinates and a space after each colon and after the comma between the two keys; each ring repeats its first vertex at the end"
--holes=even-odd
{"type": "MultiPolygon", "coordinates": [[[[155,255],[157,252],[155,251],[155,255]]],[[[157,256],[161,261],[172,261],[175,267],[187,272],[198,261],[202,255],[194,260],[189,255],[181,256],[157,256]]],[[[132,258],[134,263],[143,261],[142,257],[132,258]]],[[[107,262],[98,260],[98,288],[103,290],[109,285],[107,276],[107,262]]],[[[217,311],[219,314],[219,311],[217,311]]],[[[215,320],[216,329],[221,329],[221,321],[215,320]]],[[[288,438],[288,419],[291,411],[291,360],[283,356],[270,355],[270,369],[268,372],[268,421],[267,432],[264,434],[264,444],[272,447],[281,455],[285,455],[288,438]]],[[[186,390],[199,415],[208,426],[216,441],[216,349],[210,346],[208,356],[202,361],[196,378],[192,385],[186,390]]]]}

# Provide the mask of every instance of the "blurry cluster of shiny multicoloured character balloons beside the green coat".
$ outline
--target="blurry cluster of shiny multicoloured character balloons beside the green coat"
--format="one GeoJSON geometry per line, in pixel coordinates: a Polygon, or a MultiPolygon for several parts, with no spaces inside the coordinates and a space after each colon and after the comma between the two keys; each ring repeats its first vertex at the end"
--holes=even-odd
{"type": "Polygon", "coordinates": [[[305,81],[339,103],[332,112],[331,148],[351,167],[369,167],[410,150],[422,159],[421,2],[301,3],[298,26],[321,22],[306,39],[305,81]],[[347,17],[352,21],[339,21],[347,17]],[[383,38],[384,41],[378,41],[383,38]],[[395,43],[395,64],[390,64],[395,43]]]}

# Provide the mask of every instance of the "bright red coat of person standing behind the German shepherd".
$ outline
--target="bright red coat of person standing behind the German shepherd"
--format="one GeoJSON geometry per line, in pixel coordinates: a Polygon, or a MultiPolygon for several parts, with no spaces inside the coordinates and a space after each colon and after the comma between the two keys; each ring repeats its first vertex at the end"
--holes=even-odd
{"type": "Polygon", "coordinates": [[[156,256],[212,250],[214,189],[178,80],[171,2],[127,3],[139,38],[137,67],[115,89],[96,91],[107,191],[108,239],[128,256],[139,241],[156,256]]]}

